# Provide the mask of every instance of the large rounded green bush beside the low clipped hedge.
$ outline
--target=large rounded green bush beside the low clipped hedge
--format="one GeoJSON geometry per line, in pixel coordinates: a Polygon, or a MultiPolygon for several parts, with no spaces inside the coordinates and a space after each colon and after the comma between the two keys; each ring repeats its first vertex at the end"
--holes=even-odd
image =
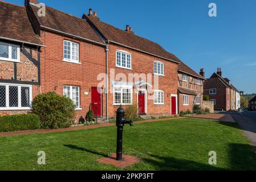
{"type": "Polygon", "coordinates": [[[55,92],[39,94],[32,102],[33,112],[40,117],[42,128],[58,129],[70,127],[75,118],[74,102],[55,92]]]}

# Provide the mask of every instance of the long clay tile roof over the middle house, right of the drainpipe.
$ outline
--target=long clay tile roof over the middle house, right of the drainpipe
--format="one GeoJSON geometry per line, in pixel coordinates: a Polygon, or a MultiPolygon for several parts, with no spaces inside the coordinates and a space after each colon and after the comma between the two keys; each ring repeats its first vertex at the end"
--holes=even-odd
{"type": "Polygon", "coordinates": [[[137,36],[131,32],[121,30],[86,14],[84,14],[84,16],[89,19],[92,24],[94,24],[94,26],[101,32],[105,39],[111,42],[119,43],[127,47],[135,48],[140,51],[151,53],[152,55],[178,62],[176,56],[165,51],[165,49],[162,48],[159,44],[152,42],[151,40],[142,38],[141,36],[137,36]]]}

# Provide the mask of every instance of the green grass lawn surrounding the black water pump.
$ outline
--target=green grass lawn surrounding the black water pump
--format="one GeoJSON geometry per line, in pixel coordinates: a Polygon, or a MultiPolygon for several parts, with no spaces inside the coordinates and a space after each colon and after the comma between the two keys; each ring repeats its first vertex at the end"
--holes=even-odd
{"type": "MultiPolygon", "coordinates": [[[[176,119],[124,128],[125,170],[256,170],[256,154],[237,123],[176,119]],[[208,164],[209,151],[217,165],[208,164]]],[[[116,127],[0,138],[0,170],[120,170],[96,159],[116,150],[116,127]],[[37,164],[38,151],[46,165],[37,164]]]]}

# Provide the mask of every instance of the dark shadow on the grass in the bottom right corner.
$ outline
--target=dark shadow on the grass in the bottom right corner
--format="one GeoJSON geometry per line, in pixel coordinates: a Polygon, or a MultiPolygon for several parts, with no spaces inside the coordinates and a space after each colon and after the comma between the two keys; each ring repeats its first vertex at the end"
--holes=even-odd
{"type": "Polygon", "coordinates": [[[231,143],[229,145],[229,162],[231,170],[256,170],[256,154],[249,144],[231,143]]]}

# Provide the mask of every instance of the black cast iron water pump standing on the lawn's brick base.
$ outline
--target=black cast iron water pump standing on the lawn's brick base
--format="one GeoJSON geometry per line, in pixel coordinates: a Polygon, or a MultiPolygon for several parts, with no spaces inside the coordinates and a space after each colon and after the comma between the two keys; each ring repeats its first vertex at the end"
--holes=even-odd
{"type": "Polygon", "coordinates": [[[133,126],[132,121],[127,121],[125,119],[125,111],[122,106],[120,106],[116,111],[116,126],[117,126],[117,142],[116,142],[116,160],[123,159],[123,128],[125,124],[133,126]]]}

